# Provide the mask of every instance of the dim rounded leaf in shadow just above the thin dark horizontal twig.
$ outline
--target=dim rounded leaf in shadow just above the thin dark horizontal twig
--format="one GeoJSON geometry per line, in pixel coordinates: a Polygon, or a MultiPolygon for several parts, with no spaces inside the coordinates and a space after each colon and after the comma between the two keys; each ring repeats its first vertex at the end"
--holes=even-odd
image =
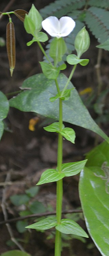
{"type": "Polygon", "coordinates": [[[29,209],[32,213],[43,213],[46,212],[46,207],[39,201],[34,201],[29,205],[29,209]]]}

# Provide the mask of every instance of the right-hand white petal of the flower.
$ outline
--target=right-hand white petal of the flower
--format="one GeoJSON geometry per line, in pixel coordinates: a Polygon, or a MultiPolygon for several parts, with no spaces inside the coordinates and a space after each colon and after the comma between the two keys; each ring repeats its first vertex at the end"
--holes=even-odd
{"type": "Polygon", "coordinates": [[[75,27],[75,21],[67,16],[62,17],[60,20],[61,36],[69,35],[75,27]]]}

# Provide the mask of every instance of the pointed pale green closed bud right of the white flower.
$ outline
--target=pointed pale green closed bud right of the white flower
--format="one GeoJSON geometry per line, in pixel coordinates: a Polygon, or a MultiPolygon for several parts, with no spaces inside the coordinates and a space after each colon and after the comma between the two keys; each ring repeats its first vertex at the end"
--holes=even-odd
{"type": "Polygon", "coordinates": [[[85,29],[85,26],[76,35],[74,45],[78,58],[80,58],[81,55],[88,50],[90,46],[90,37],[88,31],[85,29]]]}

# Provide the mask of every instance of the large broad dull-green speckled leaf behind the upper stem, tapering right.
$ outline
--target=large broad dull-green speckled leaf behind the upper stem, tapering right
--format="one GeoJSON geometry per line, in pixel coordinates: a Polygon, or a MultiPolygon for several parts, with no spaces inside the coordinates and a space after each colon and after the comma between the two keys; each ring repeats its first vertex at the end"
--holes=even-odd
{"type": "MultiPolygon", "coordinates": [[[[64,74],[60,74],[57,80],[62,91],[68,78],[64,74]]],[[[23,91],[12,98],[10,100],[11,107],[26,112],[32,111],[59,120],[58,100],[54,102],[49,101],[50,97],[57,94],[55,81],[47,79],[43,74],[37,74],[27,78],[23,82],[22,88],[29,88],[29,90],[23,91]]],[[[72,88],[74,86],[69,82],[68,89],[72,88]]],[[[63,101],[63,121],[89,129],[99,134],[109,143],[109,138],[91,118],[76,89],[71,91],[69,100],[63,101]]]]}

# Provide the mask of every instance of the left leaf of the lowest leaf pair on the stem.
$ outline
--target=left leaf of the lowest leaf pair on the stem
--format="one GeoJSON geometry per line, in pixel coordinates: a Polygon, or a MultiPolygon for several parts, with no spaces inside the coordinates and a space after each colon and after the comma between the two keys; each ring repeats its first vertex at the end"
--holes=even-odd
{"type": "Polygon", "coordinates": [[[46,229],[51,229],[51,227],[55,227],[56,224],[57,224],[56,217],[48,217],[44,220],[38,221],[34,224],[27,226],[27,229],[46,230],[46,229]]]}

